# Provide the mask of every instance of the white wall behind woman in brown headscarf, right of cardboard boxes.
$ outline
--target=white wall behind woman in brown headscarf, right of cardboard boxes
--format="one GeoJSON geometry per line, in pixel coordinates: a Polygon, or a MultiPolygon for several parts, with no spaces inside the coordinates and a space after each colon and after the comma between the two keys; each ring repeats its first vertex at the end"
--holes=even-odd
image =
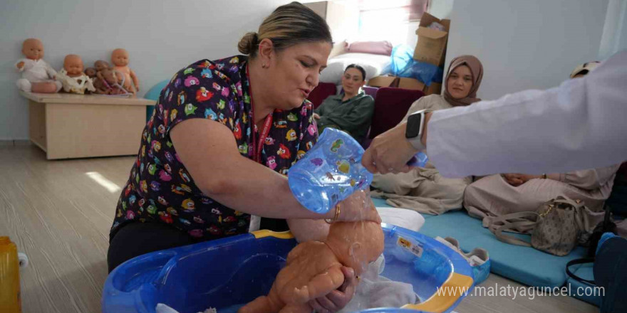
{"type": "Polygon", "coordinates": [[[463,54],[484,66],[478,96],[559,85],[596,60],[609,0],[455,1],[447,64],[463,54]]]}

